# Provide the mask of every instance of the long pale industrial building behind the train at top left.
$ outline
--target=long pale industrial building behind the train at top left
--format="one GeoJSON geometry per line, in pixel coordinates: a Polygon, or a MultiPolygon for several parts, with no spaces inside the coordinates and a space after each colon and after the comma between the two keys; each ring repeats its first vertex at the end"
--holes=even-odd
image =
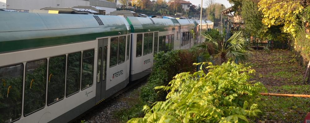
{"type": "Polygon", "coordinates": [[[19,11],[39,10],[45,7],[69,8],[89,6],[105,10],[106,14],[116,11],[116,3],[105,0],[0,0],[0,8],[19,11]]]}

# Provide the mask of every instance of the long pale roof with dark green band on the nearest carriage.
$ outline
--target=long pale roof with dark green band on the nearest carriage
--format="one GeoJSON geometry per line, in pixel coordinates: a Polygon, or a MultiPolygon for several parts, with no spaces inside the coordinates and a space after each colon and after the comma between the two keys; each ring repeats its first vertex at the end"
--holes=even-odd
{"type": "Polygon", "coordinates": [[[130,29],[119,16],[7,11],[0,16],[0,52],[95,40],[130,29]]]}

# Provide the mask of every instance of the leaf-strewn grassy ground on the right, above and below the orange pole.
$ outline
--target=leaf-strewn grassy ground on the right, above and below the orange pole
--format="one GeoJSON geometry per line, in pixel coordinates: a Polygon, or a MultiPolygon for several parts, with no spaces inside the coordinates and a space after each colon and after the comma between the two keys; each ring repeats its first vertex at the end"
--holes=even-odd
{"type": "MultiPolygon", "coordinates": [[[[310,86],[303,85],[303,72],[293,52],[288,50],[253,51],[250,59],[256,70],[253,80],[262,82],[268,93],[310,94],[310,86]]],[[[260,123],[303,122],[310,111],[310,98],[262,96],[259,106],[262,114],[260,123]]]]}

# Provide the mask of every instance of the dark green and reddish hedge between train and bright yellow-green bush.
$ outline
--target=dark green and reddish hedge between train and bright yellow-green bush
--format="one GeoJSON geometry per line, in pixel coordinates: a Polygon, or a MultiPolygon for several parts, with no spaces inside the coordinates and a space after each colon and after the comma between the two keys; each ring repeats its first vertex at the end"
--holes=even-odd
{"type": "Polygon", "coordinates": [[[140,98],[142,101],[152,104],[156,101],[165,100],[167,93],[163,91],[157,92],[154,87],[168,85],[169,81],[177,73],[194,71],[195,66],[193,63],[195,63],[198,54],[198,51],[194,49],[157,53],[148,82],[141,88],[140,98]]]}

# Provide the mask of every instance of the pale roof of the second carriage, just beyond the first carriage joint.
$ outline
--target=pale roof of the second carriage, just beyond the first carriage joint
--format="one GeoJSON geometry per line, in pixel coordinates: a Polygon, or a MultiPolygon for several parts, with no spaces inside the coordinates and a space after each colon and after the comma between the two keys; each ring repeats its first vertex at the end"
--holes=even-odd
{"type": "Polygon", "coordinates": [[[130,24],[132,33],[148,32],[148,30],[163,31],[167,27],[175,27],[175,24],[171,19],[127,16],[127,20],[130,24]]]}

